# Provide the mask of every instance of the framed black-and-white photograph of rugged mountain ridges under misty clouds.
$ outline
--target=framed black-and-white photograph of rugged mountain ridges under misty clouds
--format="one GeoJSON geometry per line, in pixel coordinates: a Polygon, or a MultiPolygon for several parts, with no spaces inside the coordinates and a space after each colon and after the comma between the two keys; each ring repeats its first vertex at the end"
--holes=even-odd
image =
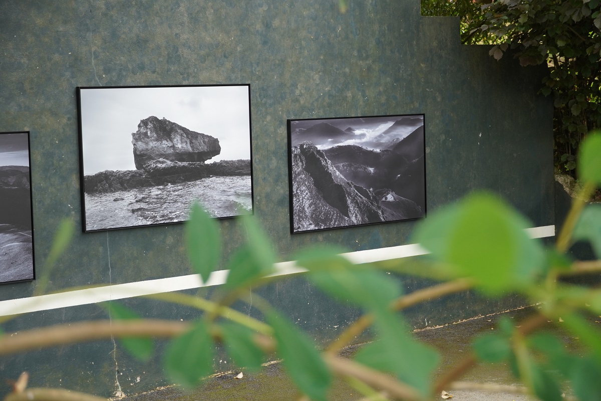
{"type": "Polygon", "coordinates": [[[426,216],[424,114],[288,120],[290,231],[426,216]]]}

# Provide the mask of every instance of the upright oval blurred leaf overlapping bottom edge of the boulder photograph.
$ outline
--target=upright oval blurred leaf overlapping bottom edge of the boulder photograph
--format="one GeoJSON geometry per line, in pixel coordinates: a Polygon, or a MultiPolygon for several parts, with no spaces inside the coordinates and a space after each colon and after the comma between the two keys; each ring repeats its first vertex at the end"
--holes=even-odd
{"type": "Polygon", "coordinates": [[[186,251],[192,268],[206,282],[219,265],[221,257],[218,222],[200,204],[194,203],[185,225],[185,235],[186,251]]]}

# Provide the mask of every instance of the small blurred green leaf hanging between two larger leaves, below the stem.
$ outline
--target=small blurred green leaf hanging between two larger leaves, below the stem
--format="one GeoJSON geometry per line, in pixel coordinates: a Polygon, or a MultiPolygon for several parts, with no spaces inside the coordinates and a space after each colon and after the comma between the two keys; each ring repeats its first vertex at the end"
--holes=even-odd
{"type": "Polygon", "coordinates": [[[252,340],[255,332],[236,323],[223,323],[221,332],[225,349],[237,366],[254,372],[261,370],[263,351],[252,340]]]}

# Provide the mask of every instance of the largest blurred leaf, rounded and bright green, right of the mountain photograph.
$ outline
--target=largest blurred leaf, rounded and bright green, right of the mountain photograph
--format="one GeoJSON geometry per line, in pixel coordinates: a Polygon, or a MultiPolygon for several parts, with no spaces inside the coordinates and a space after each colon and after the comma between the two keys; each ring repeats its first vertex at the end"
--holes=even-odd
{"type": "Polygon", "coordinates": [[[473,277],[478,288],[499,295],[531,284],[545,254],[524,229],[529,224],[507,204],[478,192],[438,210],[416,230],[416,240],[457,277],[473,277]]]}

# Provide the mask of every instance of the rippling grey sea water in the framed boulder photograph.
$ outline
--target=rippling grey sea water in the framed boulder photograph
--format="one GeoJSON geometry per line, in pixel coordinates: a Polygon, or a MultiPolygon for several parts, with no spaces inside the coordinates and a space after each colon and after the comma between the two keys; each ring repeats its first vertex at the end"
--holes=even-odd
{"type": "Polygon", "coordinates": [[[251,177],[215,176],[109,194],[85,194],[86,230],[185,221],[194,201],[200,201],[213,217],[252,213],[251,177]]]}

